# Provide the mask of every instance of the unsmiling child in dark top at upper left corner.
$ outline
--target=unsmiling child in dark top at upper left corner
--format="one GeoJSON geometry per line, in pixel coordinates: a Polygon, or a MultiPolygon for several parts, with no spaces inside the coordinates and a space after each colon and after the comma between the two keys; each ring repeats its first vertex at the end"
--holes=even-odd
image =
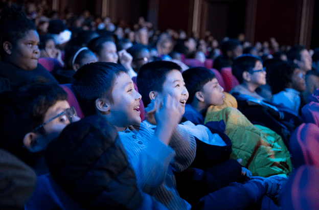
{"type": "Polygon", "coordinates": [[[50,72],[37,63],[39,35],[22,7],[13,4],[4,8],[0,15],[0,77],[11,87],[35,79],[58,84],[50,72]]]}

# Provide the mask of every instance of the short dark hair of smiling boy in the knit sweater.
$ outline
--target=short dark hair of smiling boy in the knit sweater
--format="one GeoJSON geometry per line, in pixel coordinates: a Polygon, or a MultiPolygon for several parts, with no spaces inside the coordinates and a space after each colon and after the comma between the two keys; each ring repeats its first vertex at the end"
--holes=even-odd
{"type": "Polygon", "coordinates": [[[78,69],[73,76],[72,88],[85,116],[96,114],[97,99],[113,102],[115,79],[122,73],[127,73],[123,65],[110,62],[89,63],[78,69]]]}

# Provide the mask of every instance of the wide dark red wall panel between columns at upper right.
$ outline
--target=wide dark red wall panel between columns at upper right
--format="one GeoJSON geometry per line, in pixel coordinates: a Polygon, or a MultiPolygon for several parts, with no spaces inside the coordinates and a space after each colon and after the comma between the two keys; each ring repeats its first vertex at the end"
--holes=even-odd
{"type": "Polygon", "coordinates": [[[298,12],[298,0],[258,0],[255,42],[275,37],[280,44],[293,45],[298,12]]]}

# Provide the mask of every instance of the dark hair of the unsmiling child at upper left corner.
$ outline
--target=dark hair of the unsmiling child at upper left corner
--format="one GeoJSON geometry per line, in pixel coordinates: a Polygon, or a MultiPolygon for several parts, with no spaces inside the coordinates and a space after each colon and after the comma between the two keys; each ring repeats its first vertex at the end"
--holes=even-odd
{"type": "Polygon", "coordinates": [[[6,6],[0,13],[0,55],[6,55],[3,43],[9,41],[15,45],[17,40],[21,39],[30,30],[36,30],[34,23],[27,18],[22,6],[12,4],[11,7],[6,6]]]}

